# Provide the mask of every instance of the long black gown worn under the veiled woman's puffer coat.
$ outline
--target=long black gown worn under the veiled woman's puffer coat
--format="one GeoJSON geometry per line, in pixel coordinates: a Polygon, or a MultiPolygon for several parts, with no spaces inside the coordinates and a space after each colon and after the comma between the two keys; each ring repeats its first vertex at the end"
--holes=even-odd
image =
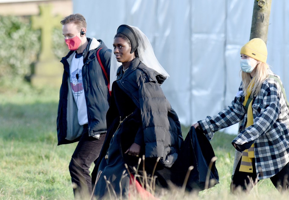
{"type": "Polygon", "coordinates": [[[133,143],[136,132],[141,127],[141,115],[132,99],[120,89],[116,82],[113,83],[112,91],[120,121],[123,120],[123,122],[110,140],[107,156],[100,162],[98,173],[101,172],[101,174],[96,183],[95,196],[101,198],[108,195],[107,186],[109,186],[111,195],[113,195],[113,189],[118,197],[122,195],[122,198],[128,198],[129,175],[125,163],[135,165],[138,158],[124,154],[124,152],[133,143]],[[123,144],[124,147],[121,147],[120,144],[123,144]],[[123,174],[123,172],[125,173],[123,174]],[[104,176],[110,184],[107,184],[104,176]]]}

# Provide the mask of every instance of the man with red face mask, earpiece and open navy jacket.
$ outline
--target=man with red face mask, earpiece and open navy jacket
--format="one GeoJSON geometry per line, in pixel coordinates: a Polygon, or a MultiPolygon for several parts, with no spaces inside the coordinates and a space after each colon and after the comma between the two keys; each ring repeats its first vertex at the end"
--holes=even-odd
{"type": "Polygon", "coordinates": [[[61,21],[65,43],[70,50],[61,62],[63,80],[57,115],[58,145],[79,141],[69,171],[77,198],[92,193],[89,168],[101,150],[109,108],[111,50],[104,42],[86,37],[86,21],[72,14],[61,21]]]}

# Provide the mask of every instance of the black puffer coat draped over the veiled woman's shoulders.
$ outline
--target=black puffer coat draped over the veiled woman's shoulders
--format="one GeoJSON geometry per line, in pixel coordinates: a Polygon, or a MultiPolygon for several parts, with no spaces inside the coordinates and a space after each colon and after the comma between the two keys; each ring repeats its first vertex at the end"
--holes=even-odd
{"type": "MultiPolygon", "coordinates": [[[[163,165],[172,166],[183,138],[179,118],[160,88],[166,78],[146,67],[138,58],[132,60],[125,73],[121,66],[117,75],[117,84],[140,109],[142,127],[137,132],[135,143],[139,144],[142,138],[145,157],[161,157],[163,165]]],[[[107,127],[117,118],[116,113],[111,108],[108,110],[107,127]]]]}

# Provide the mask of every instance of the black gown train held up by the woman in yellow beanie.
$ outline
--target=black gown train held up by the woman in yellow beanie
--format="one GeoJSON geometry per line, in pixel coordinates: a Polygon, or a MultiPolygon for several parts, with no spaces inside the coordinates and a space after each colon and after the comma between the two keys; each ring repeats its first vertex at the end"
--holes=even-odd
{"type": "Polygon", "coordinates": [[[195,129],[191,126],[185,142],[179,152],[178,159],[172,165],[171,180],[178,186],[182,186],[187,174],[188,168],[194,166],[190,173],[186,189],[191,191],[204,190],[213,187],[219,183],[219,175],[215,165],[212,163],[211,170],[209,168],[211,159],[215,156],[213,148],[206,136],[200,129],[195,129]],[[210,171],[209,184],[205,188],[207,173],[210,171]],[[178,174],[177,176],[174,174],[178,174]]]}

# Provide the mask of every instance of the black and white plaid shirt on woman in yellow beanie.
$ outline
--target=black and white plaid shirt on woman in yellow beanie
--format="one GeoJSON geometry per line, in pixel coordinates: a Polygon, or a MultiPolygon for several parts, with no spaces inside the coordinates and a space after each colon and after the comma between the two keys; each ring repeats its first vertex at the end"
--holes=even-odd
{"type": "MultiPolygon", "coordinates": [[[[278,77],[270,70],[269,74],[278,77]]],[[[241,90],[240,86],[239,91],[241,90]]],[[[198,123],[211,140],[214,132],[242,120],[240,133],[232,143],[241,147],[241,150],[248,149],[254,143],[259,180],[272,177],[289,162],[289,110],[281,87],[273,78],[267,78],[263,82],[252,103],[254,123],[248,128],[245,128],[247,112],[243,102],[244,95],[237,95],[231,106],[198,123]]]]}

